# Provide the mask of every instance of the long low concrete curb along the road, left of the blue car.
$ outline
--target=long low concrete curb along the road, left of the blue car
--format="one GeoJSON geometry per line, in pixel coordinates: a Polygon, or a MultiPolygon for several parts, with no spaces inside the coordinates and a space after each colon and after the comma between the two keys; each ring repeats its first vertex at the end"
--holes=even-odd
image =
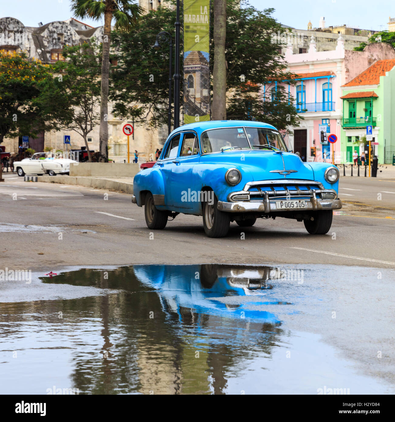
{"type": "Polygon", "coordinates": [[[101,179],[84,176],[37,176],[39,182],[60,183],[92,187],[95,189],[114,190],[117,192],[133,193],[133,182],[123,182],[113,179],[101,179]]]}

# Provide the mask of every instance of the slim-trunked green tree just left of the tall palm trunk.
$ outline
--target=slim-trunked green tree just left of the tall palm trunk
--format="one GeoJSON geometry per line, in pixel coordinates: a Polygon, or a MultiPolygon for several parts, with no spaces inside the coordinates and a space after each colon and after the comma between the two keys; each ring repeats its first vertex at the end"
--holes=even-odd
{"type": "Polygon", "coordinates": [[[84,139],[90,156],[87,135],[100,122],[100,76],[98,45],[92,38],[79,46],[65,46],[65,61],[54,65],[55,92],[49,94],[63,103],[65,118],[62,129],[74,130],[84,139]]]}

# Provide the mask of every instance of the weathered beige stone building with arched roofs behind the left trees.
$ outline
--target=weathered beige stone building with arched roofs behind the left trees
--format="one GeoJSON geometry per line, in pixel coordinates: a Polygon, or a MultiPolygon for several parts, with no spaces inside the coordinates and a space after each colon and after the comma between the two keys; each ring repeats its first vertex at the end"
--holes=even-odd
{"type": "MultiPolygon", "coordinates": [[[[158,1],[154,2],[160,3],[158,1]]],[[[7,51],[25,51],[29,58],[39,59],[45,63],[54,63],[64,60],[62,49],[65,45],[78,45],[92,37],[100,43],[103,39],[103,27],[91,27],[77,19],[70,18],[66,21],[50,22],[38,27],[26,27],[22,22],[13,17],[0,18],[0,49],[7,51]]],[[[122,127],[132,119],[121,121],[112,115],[112,104],[109,103],[109,158],[117,162],[127,160],[127,137],[123,134],[122,127]]],[[[84,146],[81,135],[74,131],[60,130],[41,133],[37,138],[29,138],[29,146],[36,152],[44,151],[45,147],[65,151],[64,135],[71,136],[71,145],[68,149],[79,149],[84,146]]],[[[6,151],[16,152],[22,144],[21,133],[16,138],[5,138],[3,145],[6,151]]],[[[148,125],[134,125],[134,133],[130,136],[130,151],[139,152],[139,162],[155,157],[156,148],[160,148],[167,137],[167,127],[153,130],[148,125]]],[[[90,149],[98,151],[99,126],[87,136],[90,149]]],[[[132,158],[131,158],[132,160],[132,158]]]]}

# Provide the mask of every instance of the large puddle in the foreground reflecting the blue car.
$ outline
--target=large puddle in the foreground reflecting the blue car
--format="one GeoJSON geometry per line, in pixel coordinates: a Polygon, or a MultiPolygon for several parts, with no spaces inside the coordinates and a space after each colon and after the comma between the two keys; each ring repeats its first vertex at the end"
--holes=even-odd
{"type": "Polygon", "coordinates": [[[68,287],[81,296],[0,303],[0,393],[387,392],[320,335],[289,328],[288,320],[305,327],[310,312],[316,324],[301,304],[317,309],[325,298],[319,286],[279,274],[264,266],[134,265],[43,277],[60,295],[68,287]]]}

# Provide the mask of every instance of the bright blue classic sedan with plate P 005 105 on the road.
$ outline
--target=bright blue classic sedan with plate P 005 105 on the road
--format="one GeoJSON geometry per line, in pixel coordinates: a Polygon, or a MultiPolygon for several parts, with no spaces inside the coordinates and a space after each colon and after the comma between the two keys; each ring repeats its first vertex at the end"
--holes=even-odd
{"type": "Polygon", "coordinates": [[[209,237],[226,236],[232,221],[247,227],[270,217],[326,234],[342,207],[338,180],[336,166],[302,162],[270,124],[198,122],[173,130],[155,165],[136,174],[132,202],[144,205],[154,230],[183,213],[202,215],[209,237]]]}

